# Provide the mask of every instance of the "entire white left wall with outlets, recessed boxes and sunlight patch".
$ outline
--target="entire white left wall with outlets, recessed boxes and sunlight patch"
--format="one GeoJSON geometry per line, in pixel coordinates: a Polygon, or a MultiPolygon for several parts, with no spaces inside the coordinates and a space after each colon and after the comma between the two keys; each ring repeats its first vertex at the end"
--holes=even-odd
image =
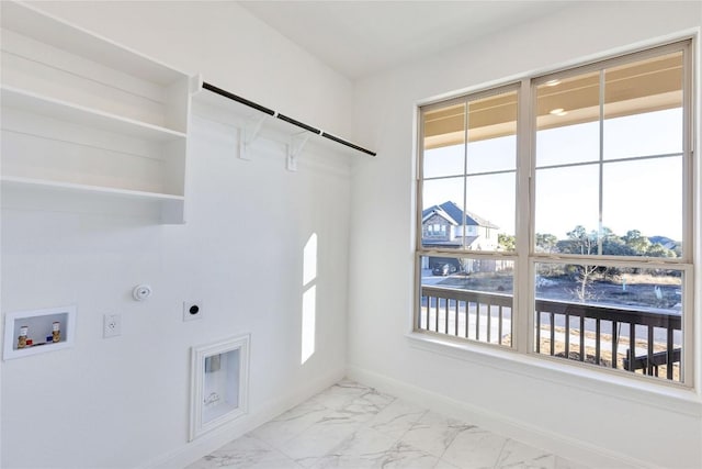
{"type": "MultiPolygon", "coordinates": [[[[236,4],[46,8],[330,132],[351,126],[351,83],[236,4]]],[[[235,129],[207,119],[192,122],[186,225],[3,208],[2,312],[76,304],[78,314],[73,348],[2,362],[0,466],[178,467],[343,376],[349,161],[309,147],[288,172],[284,146],[268,139],[244,161],[235,129]],[[313,233],[316,351],[301,365],[303,248],[313,233]],[[154,288],[144,303],[129,297],[140,282],[154,288]],[[184,323],[184,300],[202,300],[204,317],[184,323]],[[122,314],[122,336],[102,338],[106,312],[122,314]],[[245,332],[249,414],[188,444],[190,347],[245,332]]]]}

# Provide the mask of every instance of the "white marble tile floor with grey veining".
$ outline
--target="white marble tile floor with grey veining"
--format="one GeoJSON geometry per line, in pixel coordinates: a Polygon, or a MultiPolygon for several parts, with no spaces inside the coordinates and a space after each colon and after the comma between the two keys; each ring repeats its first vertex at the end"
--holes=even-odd
{"type": "Polygon", "coordinates": [[[585,469],[343,380],[188,469],[585,469]]]}

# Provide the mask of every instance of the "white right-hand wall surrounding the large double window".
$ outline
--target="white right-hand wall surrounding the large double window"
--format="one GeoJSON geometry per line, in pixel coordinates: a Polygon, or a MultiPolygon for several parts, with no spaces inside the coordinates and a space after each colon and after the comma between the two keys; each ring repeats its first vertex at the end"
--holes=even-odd
{"type": "MultiPolygon", "coordinates": [[[[414,295],[416,104],[699,33],[702,24],[700,2],[584,3],[356,85],[358,137],[378,158],[354,168],[350,376],[548,449],[584,458],[584,450],[595,450],[599,456],[589,457],[593,464],[702,467],[699,393],[663,387],[650,391],[535,358],[406,336],[414,295]],[[377,259],[393,266],[393,275],[372,268],[377,259]]],[[[697,133],[699,138],[699,127],[697,133]]],[[[699,281],[697,292],[699,302],[699,281]]],[[[699,377],[700,354],[695,357],[699,377]]]]}

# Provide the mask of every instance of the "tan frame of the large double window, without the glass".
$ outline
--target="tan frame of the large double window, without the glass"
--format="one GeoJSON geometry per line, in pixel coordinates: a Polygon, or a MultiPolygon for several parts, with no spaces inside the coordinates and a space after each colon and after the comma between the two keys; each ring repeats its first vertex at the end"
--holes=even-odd
{"type": "MultiPolygon", "coordinates": [[[[558,365],[571,365],[574,367],[587,367],[588,370],[601,372],[603,376],[610,373],[616,377],[626,377],[626,379],[641,380],[645,383],[656,383],[672,387],[682,387],[690,389],[694,387],[697,377],[694,370],[699,366],[698,360],[702,358],[695,357],[695,325],[700,317],[695,317],[699,311],[695,311],[695,303],[701,298],[695,298],[700,292],[695,292],[694,275],[698,270],[699,253],[694,243],[695,223],[698,220],[699,208],[695,206],[694,197],[700,190],[698,180],[699,175],[695,172],[699,163],[695,163],[694,149],[694,68],[693,68],[693,37],[681,37],[663,45],[654,45],[641,49],[629,51],[616,56],[610,56],[598,60],[591,60],[581,65],[569,66],[562,69],[554,69],[539,75],[530,75],[522,77],[519,81],[509,81],[489,88],[477,89],[474,92],[463,93],[442,101],[435,101],[426,105],[418,107],[418,133],[417,133],[417,155],[416,155],[416,244],[415,244],[415,289],[412,301],[412,333],[428,334],[434,339],[446,343],[455,343],[456,337],[451,337],[442,333],[433,333],[418,328],[418,317],[421,309],[421,258],[423,256],[442,256],[442,257],[468,257],[474,259],[494,259],[494,260],[512,260],[513,269],[513,293],[512,293],[512,343],[511,347],[499,346],[501,350],[518,353],[528,357],[536,357],[540,360],[551,360],[558,365]],[[627,63],[635,63],[646,58],[658,57],[673,52],[682,52],[683,69],[682,69],[682,255],[679,258],[657,258],[657,257],[635,257],[635,256],[611,256],[611,255],[570,255],[570,254],[552,254],[540,253],[535,248],[535,176],[536,176],[536,100],[537,87],[553,79],[564,79],[590,71],[599,71],[615,66],[622,66],[627,63]],[[424,115],[427,112],[455,105],[462,103],[465,105],[465,112],[468,112],[468,103],[473,100],[483,99],[491,94],[498,94],[506,91],[517,91],[518,97],[518,114],[517,114],[517,156],[516,156],[516,249],[513,252],[479,252],[464,248],[430,248],[422,246],[422,186],[423,186],[423,154],[424,154],[424,115]],[[678,269],[683,272],[683,330],[682,330],[682,362],[681,371],[683,379],[678,381],[655,380],[652,377],[639,376],[638,373],[623,373],[621,369],[598,369],[597,367],[571,361],[563,358],[551,357],[535,351],[534,342],[534,323],[535,323],[535,266],[539,263],[584,263],[607,265],[612,267],[647,267],[660,269],[678,269]],[[695,359],[697,358],[697,359],[695,359]]],[[[601,104],[602,105],[602,104],[601,104]]],[[[600,116],[602,119],[602,116],[600,116]]],[[[467,145],[467,129],[464,134],[464,145],[467,145]]],[[[465,157],[464,157],[465,160],[465,157]]],[[[467,172],[464,166],[463,177],[467,172]]],[[[430,178],[434,179],[434,178],[430,178]]],[[[464,186],[465,187],[465,186],[464,186]]],[[[465,188],[464,188],[465,203],[465,188]]],[[[464,206],[464,210],[466,208],[464,206]]],[[[488,344],[479,340],[457,338],[460,343],[475,345],[476,347],[494,347],[495,344],[488,344]]],[[[478,350],[480,349],[478,348],[478,350]]],[[[486,348],[483,348],[486,349],[486,348]]]]}

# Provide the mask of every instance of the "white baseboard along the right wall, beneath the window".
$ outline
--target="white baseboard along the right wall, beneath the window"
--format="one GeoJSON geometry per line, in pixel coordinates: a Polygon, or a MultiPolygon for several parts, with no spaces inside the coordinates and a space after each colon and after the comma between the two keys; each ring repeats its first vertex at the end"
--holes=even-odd
{"type": "Polygon", "coordinates": [[[569,438],[564,435],[516,421],[507,415],[486,412],[466,402],[418,388],[406,382],[378,375],[358,367],[349,367],[347,377],[362,384],[373,387],[381,392],[417,403],[432,411],[452,415],[490,432],[520,440],[528,445],[557,454],[566,459],[592,468],[654,469],[650,462],[616,454],[605,448],[569,438]]]}

